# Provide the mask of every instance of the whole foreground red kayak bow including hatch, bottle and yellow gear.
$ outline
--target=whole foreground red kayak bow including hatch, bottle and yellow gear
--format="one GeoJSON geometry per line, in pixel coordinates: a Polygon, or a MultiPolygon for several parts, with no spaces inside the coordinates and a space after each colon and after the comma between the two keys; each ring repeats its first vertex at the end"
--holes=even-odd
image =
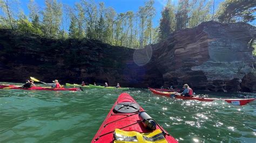
{"type": "Polygon", "coordinates": [[[134,99],[121,94],[91,142],[178,142],[134,99]]]}

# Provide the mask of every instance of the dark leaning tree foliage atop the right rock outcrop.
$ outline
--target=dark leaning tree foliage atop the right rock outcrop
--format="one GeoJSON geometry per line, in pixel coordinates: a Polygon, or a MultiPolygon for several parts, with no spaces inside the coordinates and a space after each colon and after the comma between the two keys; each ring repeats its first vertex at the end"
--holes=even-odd
{"type": "Polygon", "coordinates": [[[225,0],[219,6],[217,16],[220,22],[252,22],[255,19],[254,0],[225,0]]]}

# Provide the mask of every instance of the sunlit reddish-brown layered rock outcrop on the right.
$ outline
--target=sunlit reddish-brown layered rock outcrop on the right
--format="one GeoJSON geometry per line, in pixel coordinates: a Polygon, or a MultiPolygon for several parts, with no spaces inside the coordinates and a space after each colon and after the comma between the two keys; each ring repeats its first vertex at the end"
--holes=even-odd
{"type": "Polygon", "coordinates": [[[249,24],[203,23],[158,44],[154,63],[166,86],[188,83],[195,89],[237,91],[244,76],[253,71],[250,42],[255,37],[256,28],[249,24]]]}

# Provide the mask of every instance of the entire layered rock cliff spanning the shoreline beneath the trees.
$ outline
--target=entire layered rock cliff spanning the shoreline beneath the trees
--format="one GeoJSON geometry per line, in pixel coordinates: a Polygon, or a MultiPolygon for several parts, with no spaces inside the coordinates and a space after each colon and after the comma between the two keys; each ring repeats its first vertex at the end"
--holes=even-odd
{"type": "Polygon", "coordinates": [[[135,51],[96,40],[53,40],[0,30],[0,81],[35,76],[45,82],[144,88],[188,83],[193,89],[252,92],[255,37],[256,28],[249,24],[206,22],[135,51]]]}

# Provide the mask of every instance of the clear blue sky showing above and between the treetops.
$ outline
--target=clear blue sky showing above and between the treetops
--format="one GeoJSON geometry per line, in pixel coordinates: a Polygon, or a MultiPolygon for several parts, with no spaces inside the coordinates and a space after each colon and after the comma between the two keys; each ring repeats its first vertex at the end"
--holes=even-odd
{"type": "MultiPolygon", "coordinates": [[[[58,2],[62,2],[63,4],[68,4],[70,6],[73,6],[76,2],[79,2],[79,0],[57,0],[58,2]]],[[[143,6],[144,2],[147,0],[95,0],[96,3],[104,2],[105,7],[112,7],[114,10],[116,10],[117,13],[126,12],[126,11],[133,11],[137,12],[139,9],[139,6],[143,6]]],[[[215,10],[218,9],[218,5],[220,2],[223,2],[224,0],[215,0],[215,10]]],[[[41,7],[41,9],[44,8],[44,0],[35,0],[36,3],[41,7]]],[[[25,15],[29,14],[28,10],[28,3],[29,0],[20,0],[22,9],[24,10],[25,15]]],[[[164,6],[166,5],[167,0],[155,0],[154,8],[156,9],[156,17],[153,19],[153,27],[156,27],[159,25],[159,20],[161,18],[161,10],[163,10],[164,6]]],[[[177,5],[178,0],[172,0],[172,3],[174,5],[177,5]]],[[[255,20],[253,22],[255,24],[255,20]]]]}

